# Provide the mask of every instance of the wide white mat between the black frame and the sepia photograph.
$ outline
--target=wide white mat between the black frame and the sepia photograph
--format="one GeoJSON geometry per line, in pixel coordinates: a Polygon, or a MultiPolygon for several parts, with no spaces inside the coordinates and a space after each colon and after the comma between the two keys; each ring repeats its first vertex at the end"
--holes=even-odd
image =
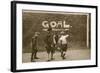
{"type": "Polygon", "coordinates": [[[52,67],[71,67],[71,66],[85,66],[95,65],[95,52],[96,52],[96,12],[93,8],[79,8],[79,7],[60,7],[60,6],[45,6],[45,5],[28,5],[28,4],[17,4],[17,70],[21,69],[38,69],[38,68],[52,68],[52,67]],[[62,11],[62,12],[85,12],[91,13],[91,60],[81,61],[59,61],[59,62],[36,62],[36,63],[22,63],[22,9],[25,10],[47,10],[47,11],[62,11]]]}

